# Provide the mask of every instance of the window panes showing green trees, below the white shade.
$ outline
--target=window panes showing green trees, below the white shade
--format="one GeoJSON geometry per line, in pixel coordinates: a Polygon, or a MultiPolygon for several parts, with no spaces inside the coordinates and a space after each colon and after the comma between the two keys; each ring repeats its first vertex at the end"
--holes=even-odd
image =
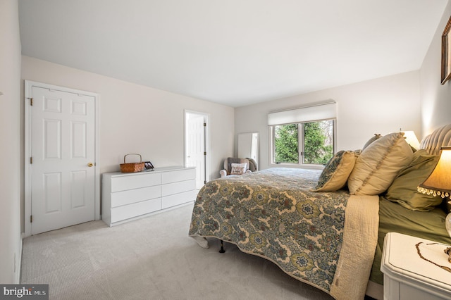
{"type": "Polygon", "coordinates": [[[272,163],[322,165],[333,156],[334,120],[274,125],[271,129],[272,163]]]}

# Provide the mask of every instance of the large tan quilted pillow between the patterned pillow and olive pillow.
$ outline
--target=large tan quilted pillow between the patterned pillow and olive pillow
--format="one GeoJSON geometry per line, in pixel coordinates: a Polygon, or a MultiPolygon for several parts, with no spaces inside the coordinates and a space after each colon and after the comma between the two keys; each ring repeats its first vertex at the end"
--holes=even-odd
{"type": "Polygon", "coordinates": [[[393,132],[362,151],[347,180],[351,194],[378,195],[392,184],[397,173],[412,162],[413,151],[403,132],[393,132]]]}

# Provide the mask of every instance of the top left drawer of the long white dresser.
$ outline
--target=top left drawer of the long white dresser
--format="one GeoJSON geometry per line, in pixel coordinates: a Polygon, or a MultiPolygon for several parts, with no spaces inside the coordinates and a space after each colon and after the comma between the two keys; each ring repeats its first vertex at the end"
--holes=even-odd
{"type": "Polygon", "coordinates": [[[111,192],[152,187],[152,185],[161,185],[161,175],[159,173],[139,173],[111,178],[111,192]]]}

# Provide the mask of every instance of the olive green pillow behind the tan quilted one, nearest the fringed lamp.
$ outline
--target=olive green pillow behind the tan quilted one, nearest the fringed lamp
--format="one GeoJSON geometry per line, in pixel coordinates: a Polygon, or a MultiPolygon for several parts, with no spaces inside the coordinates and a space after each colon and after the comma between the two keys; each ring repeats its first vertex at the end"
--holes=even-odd
{"type": "Polygon", "coordinates": [[[402,169],[387,190],[385,198],[399,203],[411,211],[431,211],[439,206],[443,199],[440,196],[421,194],[417,187],[431,174],[439,156],[428,154],[424,149],[414,153],[412,163],[402,169]]]}

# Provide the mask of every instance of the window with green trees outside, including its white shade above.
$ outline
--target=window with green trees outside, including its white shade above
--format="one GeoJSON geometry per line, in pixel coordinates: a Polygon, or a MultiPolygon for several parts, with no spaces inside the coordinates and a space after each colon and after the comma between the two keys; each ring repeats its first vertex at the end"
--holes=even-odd
{"type": "Polygon", "coordinates": [[[271,163],[327,163],[334,154],[335,118],[335,101],[268,113],[271,163]]]}

